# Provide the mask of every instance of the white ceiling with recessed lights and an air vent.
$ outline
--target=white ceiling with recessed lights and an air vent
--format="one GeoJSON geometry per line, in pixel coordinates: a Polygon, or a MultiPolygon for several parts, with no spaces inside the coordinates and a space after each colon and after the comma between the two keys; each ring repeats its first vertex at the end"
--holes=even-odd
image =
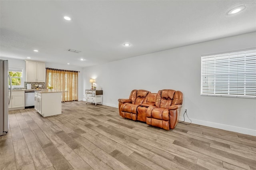
{"type": "Polygon", "coordinates": [[[256,31],[255,0],[0,3],[0,56],[79,67],[256,31]]]}

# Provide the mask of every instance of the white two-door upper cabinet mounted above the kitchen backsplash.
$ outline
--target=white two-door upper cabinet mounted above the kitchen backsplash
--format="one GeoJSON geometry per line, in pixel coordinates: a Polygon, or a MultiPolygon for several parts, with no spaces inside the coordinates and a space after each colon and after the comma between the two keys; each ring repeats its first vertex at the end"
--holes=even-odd
{"type": "Polygon", "coordinates": [[[45,63],[26,61],[26,81],[45,82],[45,63]]]}

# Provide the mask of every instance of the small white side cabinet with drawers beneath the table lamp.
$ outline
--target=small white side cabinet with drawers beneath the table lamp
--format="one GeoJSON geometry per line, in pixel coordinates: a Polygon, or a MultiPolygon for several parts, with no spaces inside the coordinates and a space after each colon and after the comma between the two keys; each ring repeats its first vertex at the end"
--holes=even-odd
{"type": "Polygon", "coordinates": [[[85,90],[86,95],[86,104],[87,102],[92,102],[97,105],[97,103],[100,103],[102,105],[102,95],[103,90],[85,90]]]}

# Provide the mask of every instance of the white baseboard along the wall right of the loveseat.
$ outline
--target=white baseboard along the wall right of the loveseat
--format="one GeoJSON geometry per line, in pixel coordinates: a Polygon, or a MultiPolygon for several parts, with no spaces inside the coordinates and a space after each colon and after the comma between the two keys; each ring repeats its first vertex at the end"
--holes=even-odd
{"type": "MultiPolygon", "coordinates": [[[[180,117],[179,120],[183,121],[184,118],[180,117]]],[[[185,121],[190,122],[188,119],[186,119],[186,117],[185,117],[185,121]]],[[[229,130],[232,132],[238,132],[238,133],[242,133],[242,134],[250,134],[250,135],[256,136],[256,130],[253,130],[253,129],[235,127],[235,126],[224,125],[224,124],[208,122],[208,121],[201,121],[201,120],[197,120],[197,119],[191,119],[191,121],[192,121],[192,123],[198,124],[198,125],[203,125],[203,126],[213,127],[213,128],[220,128],[223,130],[229,130]]]]}

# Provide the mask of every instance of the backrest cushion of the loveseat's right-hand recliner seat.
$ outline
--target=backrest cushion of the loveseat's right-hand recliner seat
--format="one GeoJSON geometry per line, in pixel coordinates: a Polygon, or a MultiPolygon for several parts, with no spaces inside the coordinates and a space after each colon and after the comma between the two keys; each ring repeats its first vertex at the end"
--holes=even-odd
{"type": "Polygon", "coordinates": [[[159,90],[156,96],[156,107],[168,109],[172,105],[175,90],[159,90]]]}

